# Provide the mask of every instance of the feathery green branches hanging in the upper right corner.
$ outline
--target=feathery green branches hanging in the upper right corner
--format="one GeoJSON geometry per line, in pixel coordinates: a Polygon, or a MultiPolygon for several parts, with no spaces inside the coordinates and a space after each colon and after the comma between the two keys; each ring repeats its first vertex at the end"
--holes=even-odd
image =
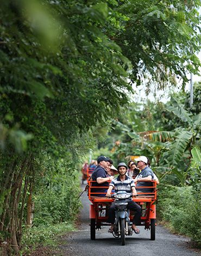
{"type": "MultiPolygon", "coordinates": [[[[128,14],[130,19],[125,32],[118,34],[118,40],[121,41],[123,53],[133,64],[132,81],[137,78],[138,84],[146,78],[157,81],[160,77],[160,84],[155,84],[163,88],[168,80],[176,83],[175,75],[182,76],[185,84],[188,81],[184,75],[186,68],[198,72],[199,59],[192,46],[195,47],[196,41],[200,40],[198,34],[194,35],[200,1],[190,2],[133,0],[121,5],[122,13],[128,14]]],[[[199,46],[196,48],[198,50],[199,46]]]]}

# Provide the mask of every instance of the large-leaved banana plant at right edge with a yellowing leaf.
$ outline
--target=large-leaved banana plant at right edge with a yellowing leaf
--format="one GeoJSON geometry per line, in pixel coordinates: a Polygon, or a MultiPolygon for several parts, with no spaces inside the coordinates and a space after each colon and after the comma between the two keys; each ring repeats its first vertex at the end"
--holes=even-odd
{"type": "Polygon", "coordinates": [[[165,141],[166,150],[161,157],[160,166],[170,168],[184,185],[187,178],[187,167],[192,157],[191,149],[200,142],[201,114],[192,115],[173,98],[169,105],[166,105],[166,109],[183,121],[184,127],[179,127],[174,132],[150,133],[146,137],[151,141],[165,141]]]}

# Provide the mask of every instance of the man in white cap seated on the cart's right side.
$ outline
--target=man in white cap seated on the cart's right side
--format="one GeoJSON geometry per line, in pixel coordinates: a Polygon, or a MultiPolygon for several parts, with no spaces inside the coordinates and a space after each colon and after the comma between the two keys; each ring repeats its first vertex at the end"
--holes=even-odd
{"type": "Polygon", "coordinates": [[[141,169],[141,172],[139,175],[136,176],[134,179],[135,182],[137,182],[136,191],[140,193],[148,193],[153,192],[153,188],[139,188],[139,187],[152,187],[152,181],[154,180],[154,173],[153,170],[148,166],[148,159],[146,156],[139,156],[137,159],[135,159],[137,162],[137,167],[141,169]]]}

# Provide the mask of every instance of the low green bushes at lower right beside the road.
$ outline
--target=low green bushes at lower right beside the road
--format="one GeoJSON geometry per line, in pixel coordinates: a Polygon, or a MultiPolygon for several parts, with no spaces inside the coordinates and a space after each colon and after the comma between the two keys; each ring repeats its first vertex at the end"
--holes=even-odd
{"type": "Polygon", "coordinates": [[[192,186],[164,187],[159,193],[159,216],[168,227],[188,235],[201,246],[201,199],[194,195],[192,186]]]}

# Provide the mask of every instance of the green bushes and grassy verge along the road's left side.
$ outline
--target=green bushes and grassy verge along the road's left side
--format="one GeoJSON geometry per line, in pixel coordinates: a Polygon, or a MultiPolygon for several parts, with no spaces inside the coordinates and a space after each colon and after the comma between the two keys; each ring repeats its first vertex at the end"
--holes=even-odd
{"type": "MultiPolygon", "coordinates": [[[[28,253],[39,245],[54,245],[56,235],[74,229],[80,208],[77,199],[79,168],[70,154],[66,155],[66,161],[61,157],[50,157],[44,151],[42,155],[42,159],[36,161],[40,172],[35,177],[32,228],[23,225],[21,253],[28,253]]],[[[26,223],[27,204],[25,210],[23,223],[26,223]]]]}

